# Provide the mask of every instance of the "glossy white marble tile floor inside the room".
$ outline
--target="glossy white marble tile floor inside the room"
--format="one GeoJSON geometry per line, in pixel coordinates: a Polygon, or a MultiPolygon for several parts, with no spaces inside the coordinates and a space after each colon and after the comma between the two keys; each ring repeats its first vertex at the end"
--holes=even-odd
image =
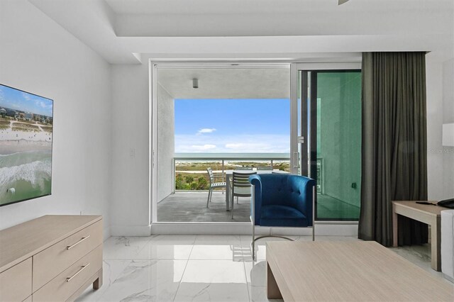
{"type": "MultiPolygon", "coordinates": [[[[249,235],[110,237],[104,242],[103,286],[87,289],[77,301],[281,301],[266,297],[267,240],[282,239],[258,241],[253,262],[249,235]]],[[[358,239],[317,236],[316,240],[358,239]]],[[[445,280],[431,269],[430,245],[391,250],[445,280]]]]}

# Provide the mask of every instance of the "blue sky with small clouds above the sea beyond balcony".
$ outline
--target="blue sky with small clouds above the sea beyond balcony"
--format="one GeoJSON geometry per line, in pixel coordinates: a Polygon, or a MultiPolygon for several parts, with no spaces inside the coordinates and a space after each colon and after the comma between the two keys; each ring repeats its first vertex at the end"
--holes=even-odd
{"type": "Polygon", "coordinates": [[[289,152],[288,99],[175,99],[175,152],[289,152]]]}

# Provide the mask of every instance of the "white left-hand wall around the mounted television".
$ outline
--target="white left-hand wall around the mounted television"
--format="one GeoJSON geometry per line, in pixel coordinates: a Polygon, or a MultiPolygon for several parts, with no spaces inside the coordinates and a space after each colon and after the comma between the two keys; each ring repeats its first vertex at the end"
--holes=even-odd
{"type": "Polygon", "coordinates": [[[109,64],[25,0],[0,1],[0,83],[54,100],[52,195],[0,208],[0,229],[99,214],[109,236],[109,64]]]}

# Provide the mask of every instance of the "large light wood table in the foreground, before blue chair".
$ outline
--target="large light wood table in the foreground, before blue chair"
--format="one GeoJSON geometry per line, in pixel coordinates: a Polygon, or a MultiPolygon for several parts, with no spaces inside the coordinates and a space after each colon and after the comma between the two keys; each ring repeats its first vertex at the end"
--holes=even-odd
{"type": "Polygon", "coordinates": [[[377,242],[267,242],[267,296],[286,302],[452,302],[454,284],[377,242]]]}

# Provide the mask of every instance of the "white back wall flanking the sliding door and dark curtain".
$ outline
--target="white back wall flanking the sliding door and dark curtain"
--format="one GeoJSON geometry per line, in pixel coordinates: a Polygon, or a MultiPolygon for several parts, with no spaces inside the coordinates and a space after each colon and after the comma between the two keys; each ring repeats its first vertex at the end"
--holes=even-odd
{"type": "MultiPolygon", "coordinates": [[[[143,62],[148,59],[144,57],[143,62]]],[[[442,148],[443,65],[437,55],[427,55],[426,72],[428,197],[439,200],[443,198],[443,154],[433,150],[442,148]]],[[[112,235],[150,234],[149,77],[148,63],[112,65],[112,235]],[[135,158],[130,157],[131,149],[135,158]]]]}

